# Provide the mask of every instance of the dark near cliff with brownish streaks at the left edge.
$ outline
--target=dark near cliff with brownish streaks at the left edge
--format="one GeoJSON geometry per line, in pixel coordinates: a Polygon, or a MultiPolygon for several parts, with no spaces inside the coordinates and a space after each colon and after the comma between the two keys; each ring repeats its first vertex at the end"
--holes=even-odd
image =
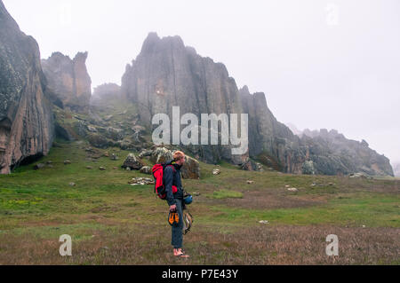
{"type": "Polygon", "coordinates": [[[35,39],[20,31],[0,1],[0,172],[48,153],[51,104],[35,39]]]}

